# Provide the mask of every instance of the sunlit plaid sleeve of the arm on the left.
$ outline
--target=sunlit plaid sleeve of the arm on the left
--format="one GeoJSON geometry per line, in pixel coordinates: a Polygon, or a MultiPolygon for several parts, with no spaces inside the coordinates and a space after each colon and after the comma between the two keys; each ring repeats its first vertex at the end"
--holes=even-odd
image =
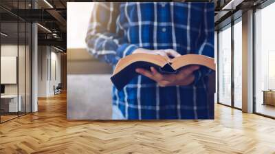
{"type": "Polygon", "coordinates": [[[129,44],[123,36],[122,26],[118,22],[119,5],[120,3],[94,3],[86,37],[89,53],[113,65],[137,49],[136,45],[129,44]]]}

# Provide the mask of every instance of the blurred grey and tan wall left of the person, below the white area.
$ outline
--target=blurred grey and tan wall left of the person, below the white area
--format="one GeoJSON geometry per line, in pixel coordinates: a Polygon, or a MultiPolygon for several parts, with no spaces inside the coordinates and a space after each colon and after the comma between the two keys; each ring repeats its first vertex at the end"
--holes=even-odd
{"type": "Polygon", "coordinates": [[[67,119],[111,119],[111,66],[85,49],[67,50],[67,119]]]}

